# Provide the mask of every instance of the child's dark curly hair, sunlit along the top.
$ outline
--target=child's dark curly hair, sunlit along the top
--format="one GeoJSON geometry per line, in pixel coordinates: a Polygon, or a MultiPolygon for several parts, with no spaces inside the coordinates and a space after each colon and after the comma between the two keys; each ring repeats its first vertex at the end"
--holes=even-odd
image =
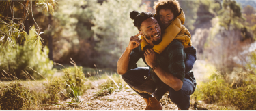
{"type": "Polygon", "coordinates": [[[161,9],[171,9],[171,12],[173,12],[176,18],[180,14],[180,3],[177,0],[159,0],[155,2],[154,9],[158,16],[161,9]]]}

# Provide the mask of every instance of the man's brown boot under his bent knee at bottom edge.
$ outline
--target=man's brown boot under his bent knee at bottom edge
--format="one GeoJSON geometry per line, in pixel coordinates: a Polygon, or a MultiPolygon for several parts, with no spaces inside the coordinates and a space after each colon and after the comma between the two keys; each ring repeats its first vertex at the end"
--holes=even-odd
{"type": "Polygon", "coordinates": [[[162,105],[155,97],[143,98],[147,103],[145,111],[161,111],[162,105]]]}

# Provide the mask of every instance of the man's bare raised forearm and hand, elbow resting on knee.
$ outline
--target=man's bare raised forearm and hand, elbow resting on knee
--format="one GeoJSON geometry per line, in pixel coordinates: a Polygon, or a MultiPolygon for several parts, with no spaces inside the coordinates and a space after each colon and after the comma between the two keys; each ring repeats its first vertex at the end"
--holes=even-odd
{"type": "MultiPolygon", "coordinates": [[[[132,49],[137,48],[139,43],[141,42],[138,38],[140,34],[130,37],[130,42],[126,50],[121,55],[117,62],[117,73],[122,75],[128,71],[128,66],[130,62],[130,54],[132,53],[132,49]]],[[[138,59],[139,60],[139,59],[138,59]]]]}

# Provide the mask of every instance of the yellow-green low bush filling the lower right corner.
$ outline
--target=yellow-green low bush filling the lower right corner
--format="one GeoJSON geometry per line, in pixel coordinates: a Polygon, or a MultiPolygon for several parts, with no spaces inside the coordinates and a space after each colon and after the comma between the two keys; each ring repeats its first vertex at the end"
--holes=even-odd
{"type": "Polygon", "coordinates": [[[219,103],[223,106],[236,106],[242,110],[256,110],[256,76],[248,72],[237,72],[233,76],[219,74],[214,81],[197,87],[195,95],[207,103],[219,103]],[[231,77],[231,78],[230,78],[231,77]]]}

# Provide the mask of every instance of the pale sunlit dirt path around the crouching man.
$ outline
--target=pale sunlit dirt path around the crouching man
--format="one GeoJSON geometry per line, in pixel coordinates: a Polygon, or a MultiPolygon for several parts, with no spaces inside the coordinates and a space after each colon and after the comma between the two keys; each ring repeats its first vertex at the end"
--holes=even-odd
{"type": "MultiPolygon", "coordinates": [[[[195,62],[193,71],[195,72],[194,74],[197,81],[205,80],[205,75],[207,74],[207,70],[203,68],[205,64],[206,62],[202,60],[195,62]]],[[[91,81],[91,87],[93,88],[86,91],[85,95],[81,97],[83,102],[77,106],[48,106],[44,108],[44,110],[143,110],[145,108],[146,103],[143,98],[130,89],[128,85],[126,85],[122,91],[114,91],[112,95],[97,97],[96,93],[99,90],[97,87],[104,82],[106,82],[106,80],[91,81]]],[[[177,109],[177,106],[171,102],[167,94],[162,97],[160,102],[165,111],[177,109]]],[[[195,102],[191,99],[190,103],[195,102]]],[[[199,106],[197,109],[190,106],[189,110],[218,110],[213,104],[203,104],[199,102],[197,106],[199,106]]]]}

